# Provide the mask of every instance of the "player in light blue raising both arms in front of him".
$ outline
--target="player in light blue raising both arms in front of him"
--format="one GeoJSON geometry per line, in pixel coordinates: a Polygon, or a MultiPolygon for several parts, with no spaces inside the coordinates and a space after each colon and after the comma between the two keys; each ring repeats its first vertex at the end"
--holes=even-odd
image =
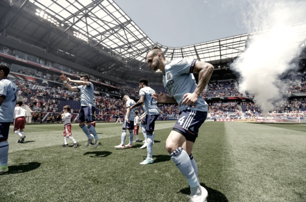
{"type": "Polygon", "coordinates": [[[70,78],[66,78],[66,76],[63,74],[61,76],[61,80],[64,82],[65,86],[70,91],[81,91],[81,109],[79,112],[79,126],[82,128],[83,132],[86,134],[88,141],[86,147],[94,141],[94,148],[97,148],[99,146],[100,138],[97,135],[96,129],[91,126],[91,122],[93,121],[93,114],[95,112],[94,102],[93,102],[93,85],[91,82],[89,82],[89,76],[88,75],[81,75],[80,81],[71,80],[70,78]],[[70,86],[70,84],[67,82],[76,83],[80,86],[70,86]],[[93,134],[94,138],[90,136],[89,130],[93,134]]]}

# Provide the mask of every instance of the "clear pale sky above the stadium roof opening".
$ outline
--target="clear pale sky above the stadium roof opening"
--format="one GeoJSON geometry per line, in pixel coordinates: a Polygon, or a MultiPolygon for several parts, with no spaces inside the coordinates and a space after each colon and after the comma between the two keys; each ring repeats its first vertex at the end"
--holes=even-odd
{"type": "Polygon", "coordinates": [[[182,47],[247,33],[246,0],[114,0],[153,41],[182,47]]]}

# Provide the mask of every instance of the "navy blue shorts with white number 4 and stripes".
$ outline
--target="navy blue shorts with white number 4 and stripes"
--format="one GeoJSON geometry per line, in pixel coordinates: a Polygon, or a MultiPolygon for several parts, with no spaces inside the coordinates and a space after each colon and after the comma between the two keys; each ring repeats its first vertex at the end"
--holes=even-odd
{"type": "Polygon", "coordinates": [[[207,118],[207,112],[184,109],[172,130],[184,135],[186,140],[195,142],[199,128],[207,118]]]}

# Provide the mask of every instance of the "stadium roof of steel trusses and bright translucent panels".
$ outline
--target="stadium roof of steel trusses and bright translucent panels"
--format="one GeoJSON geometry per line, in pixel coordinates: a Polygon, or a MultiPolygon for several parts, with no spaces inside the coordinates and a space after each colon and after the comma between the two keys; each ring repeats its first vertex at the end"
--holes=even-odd
{"type": "MultiPolygon", "coordinates": [[[[247,39],[252,37],[252,34],[243,34],[174,48],[152,42],[112,0],[5,2],[15,8],[15,17],[9,20],[6,16],[12,9],[1,10],[4,14],[0,21],[8,35],[54,54],[59,50],[67,52],[75,56],[68,60],[119,80],[127,77],[137,80],[147,74],[149,79],[161,81],[160,74],[145,65],[146,53],[154,45],[165,52],[168,60],[183,57],[216,65],[233,61],[243,53],[247,39]]],[[[301,37],[296,46],[304,47],[306,24],[300,27],[301,37]]]]}

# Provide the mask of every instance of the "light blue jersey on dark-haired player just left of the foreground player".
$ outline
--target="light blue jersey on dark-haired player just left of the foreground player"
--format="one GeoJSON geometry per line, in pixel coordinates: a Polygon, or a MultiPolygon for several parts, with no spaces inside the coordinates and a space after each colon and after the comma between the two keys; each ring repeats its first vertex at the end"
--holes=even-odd
{"type": "Polygon", "coordinates": [[[157,108],[156,101],[152,97],[152,94],[154,93],[155,93],[155,90],[151,89],[150,87],[144,87],[139,90],[139,97],[141,95],[144,95],[145,112],[146,114],[149,114],[149,115],[160,114],[157,108]]]}

